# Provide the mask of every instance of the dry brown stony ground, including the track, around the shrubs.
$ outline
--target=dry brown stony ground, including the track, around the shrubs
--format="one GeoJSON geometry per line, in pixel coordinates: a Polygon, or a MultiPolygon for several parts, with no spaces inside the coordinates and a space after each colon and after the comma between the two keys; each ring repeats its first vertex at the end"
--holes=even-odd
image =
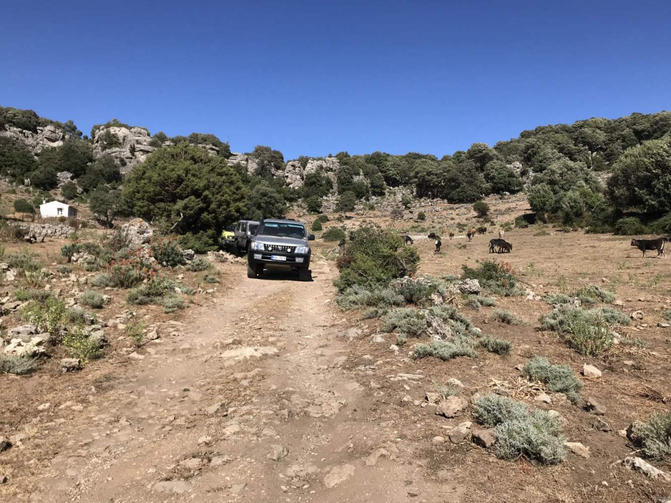
{"type": "MultiPolygon", "coordinates": [[[[521,199],[491,203],[497,223],[525,211],[521,199]]],[[[425,223],[370,213],[344,225],[442,232],[459,221],[475,223],[474,215],[445,206],[427,211],[425,223]]],[[[105,356],[79,372],[62,374],[62,355],[54,355],[30,376],[0,374],[0,437],[19,435],[0,453],[0,481],[6,476],[0,500],[620,503],[669,496],[671,484],[618,461],[637,450],[619,432],[670,407],[671,328],[658,323],[671,309],[671,262],[641,258],[629,238],[550,226],[507,232],[513,252],[501,255],[488,254],[493,233],[471,242],[462,234],[452,241],[444,236],[440,254],[425,232],[409,233],[417,237],[419,274],[459,274],[463,264],[493,259],[509,263],[536,296],[588,284],[609,289],[627,315],[643,311],[620,335],[648,344],[582,357],[554,333],[537,330],[552,306],[517,296],[478,311],[462,308],[484,333],[513,342],[509,356],[478,351],[475,358],[413,360],[413,339],[393,347],[396,336],[382,333],[380,321],[338,309],[335,263],[323,258],[333,243],[318,239],[312,282],[280,272],[248,279],[244,264],[216,264],[216,291],[196,294],[189,309],[172,315],[130,308],[124,292],[110,291],[114,300],[100,319],[132,309],[157,323],[160,337],[135,347],[111,324],[105,356]],[[521,323],[495,321],[494,309],[511,311],[521,323]],[[534,355],[568,364],[584,382],[584,398],[605,406],[605,414],[588,412],[584,399],[577,405],[556,395],[551,404],[534,400],[542,385],[516,369],[534,355]],[[583,364],[603,376],[582,377],[583,364]],[[498,390],[557,410],[568,441],[589,447],[589,457],[568,452],[563,463],[539,467],[523,458],[503,461],[470,441],[451,443],[448,432],[470,420],[470,410],[448,419],[425,400],[434,383],[450,378],[464,385],[464,398],[498,390]]],[[[30,250],[55,268],[64,242],[30,250]]],[[[7,245],[8,253],[11,246],[19,247],[7,245]]],[[[78,276],[88,274],[77,267],[78,276]]],[[[198,286],[196,274],[178,273],[198,286]]],[[[9,295],[13,288],[5,282],[2,290],[9,295]]],[[[19,324],[16,313],[4,318],[3,331],[19,324]]],[[[654,465],[671,471],[668,459],[654,465]]]]}

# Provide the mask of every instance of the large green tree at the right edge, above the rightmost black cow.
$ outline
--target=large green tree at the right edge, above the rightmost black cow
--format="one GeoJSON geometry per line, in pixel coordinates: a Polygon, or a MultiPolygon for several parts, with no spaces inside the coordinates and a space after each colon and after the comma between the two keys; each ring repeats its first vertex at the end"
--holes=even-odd
{"type": "Polygon", "coordinates": [[[613,166],[607,197],[620,212],[650,217],[671,211],[671,136],[626,150],[613,166]]]}

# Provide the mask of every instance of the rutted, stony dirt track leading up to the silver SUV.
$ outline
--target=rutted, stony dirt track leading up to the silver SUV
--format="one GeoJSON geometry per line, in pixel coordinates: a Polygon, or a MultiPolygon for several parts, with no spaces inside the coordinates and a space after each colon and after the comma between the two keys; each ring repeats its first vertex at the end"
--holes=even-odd
{"type": "Polygon", "coordinates": [[[348,353],[331,266],[315,262],[309,283],[239,269],[235,289],[127,375],[54,404],[77,413],[50,423],[60,447],[27,500],[460,501],[425,482],[394,421],[371,410],[384,391],[348,353]]]}

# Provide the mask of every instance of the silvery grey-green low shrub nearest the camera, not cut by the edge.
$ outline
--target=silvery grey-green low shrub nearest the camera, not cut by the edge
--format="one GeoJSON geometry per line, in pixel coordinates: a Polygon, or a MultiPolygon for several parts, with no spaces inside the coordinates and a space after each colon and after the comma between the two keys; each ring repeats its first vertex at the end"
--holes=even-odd
{"type": "Polygon", "coordinates": [[[548,412],[496,394],[480,396],[474,408],[478,423],[495,428],[497,457],[517,459],[524,455],[548,465],[564,461],[562,424],[548,412]]]}

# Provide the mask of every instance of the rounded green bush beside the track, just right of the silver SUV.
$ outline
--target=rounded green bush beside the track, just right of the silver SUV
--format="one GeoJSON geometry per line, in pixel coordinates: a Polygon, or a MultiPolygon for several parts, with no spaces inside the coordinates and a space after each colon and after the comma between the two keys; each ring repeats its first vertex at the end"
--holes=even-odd
{"type": "Polygon", "coordinates": [[[415,247],[405,246],[403,239],[391,231],[364,227],[352,233],[336,264],[340,277],[334,283],[339,290],[355,284],[379,287],[395,278],[414,274],[419,254],[415,247]]]}

